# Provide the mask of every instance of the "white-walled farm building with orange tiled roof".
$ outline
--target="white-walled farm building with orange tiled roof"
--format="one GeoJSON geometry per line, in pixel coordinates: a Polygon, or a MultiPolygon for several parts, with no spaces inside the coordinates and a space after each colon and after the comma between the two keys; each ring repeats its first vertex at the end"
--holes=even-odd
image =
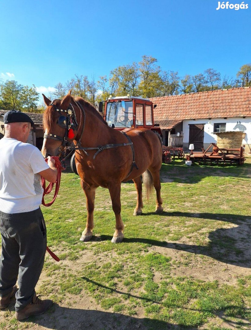
{"type": "Polygon", "coordinates": [[[245,152],[251,152],[251,87],[151,98],[154,121],[164,145],[188,150],[217,143],[217,132],[243,131],[245,152]],[[155,106],[156,105],[156,106],[155,106]]]}

